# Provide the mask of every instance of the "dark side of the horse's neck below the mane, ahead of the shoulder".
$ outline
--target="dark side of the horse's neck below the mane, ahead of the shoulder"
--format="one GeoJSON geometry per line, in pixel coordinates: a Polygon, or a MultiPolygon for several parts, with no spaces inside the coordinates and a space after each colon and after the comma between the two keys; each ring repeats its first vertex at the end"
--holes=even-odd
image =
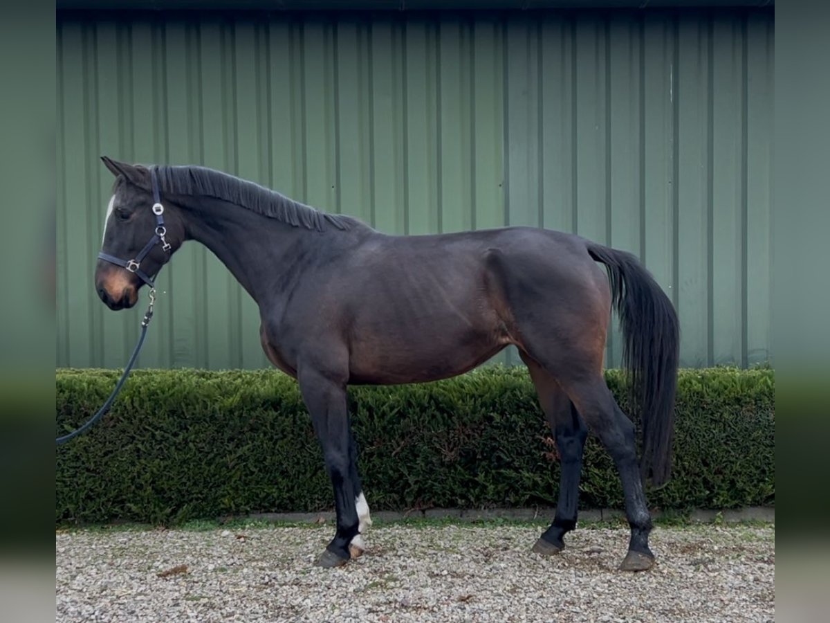
{"type": "Polygon", "coordinates": [[[310,233],[213,200],[188,209],[186,220],[187,237],[210,249],[260,304],[282,272],[296,270],[298,244],[310,233]]]}

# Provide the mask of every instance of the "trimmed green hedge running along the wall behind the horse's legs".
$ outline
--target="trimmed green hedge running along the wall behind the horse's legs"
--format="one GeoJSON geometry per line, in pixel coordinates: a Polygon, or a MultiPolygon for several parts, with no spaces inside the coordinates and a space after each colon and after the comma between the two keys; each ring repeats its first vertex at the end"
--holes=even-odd
{"type": "MultiPolygon", "coordinates": [[[[113,370],[56,371],[56,433],[95,413],[113,370]]],[[[625,409],[623,376],[607,373],[625,409]]],[[[555,505],[559,464],[524,368],[424,385],[354,387],[350,412],[373,509],[555,505]]],[[[774,503],[774,373],[681,370],[671,481],[652,508],[774,503]]],[[[297,385],[276,371],[136,370],[108,415],[56,450],[56,522],[330,509],[297,385]]],[[[588,438],[583,508],[622,508],[613,463],[588,438]]]]}

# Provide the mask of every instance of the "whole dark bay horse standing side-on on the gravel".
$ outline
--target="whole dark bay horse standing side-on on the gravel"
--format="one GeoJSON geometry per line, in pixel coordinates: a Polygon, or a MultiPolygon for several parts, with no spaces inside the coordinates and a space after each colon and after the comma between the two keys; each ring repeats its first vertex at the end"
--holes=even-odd
{"type": "Polygon", "coordinates": [[[299,382],[334,486],[337,530],[320,565],[359,556],[371,524],[346,385],[460,375],[513,344],[562,461],[554,520],[533,550],[560,552],[576,526],[591,429],[623,483],[631,540],[620,568],[652,566],[642,483],[669,477],[679,339],[671,302],[634,256],[538,228],[389,236],[212,169],[103,160],[116,179],[95,287],[110,309],[134,306],[187,240],[258,304],[262,348],[299,382]],[[603,379],[612,308],[642,417],[641,464],[632,420],[603,379]]]}

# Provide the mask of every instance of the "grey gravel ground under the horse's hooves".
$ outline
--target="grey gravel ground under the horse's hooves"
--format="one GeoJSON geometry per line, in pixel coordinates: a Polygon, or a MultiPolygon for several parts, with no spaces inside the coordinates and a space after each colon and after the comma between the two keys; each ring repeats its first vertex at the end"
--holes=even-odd
{"type": "Polygon", "coordinates": [[[334,570],[312,566],[330,525],[58,532],[56,621],[774,620],[774,526],[657,527],[637,574],[624,527],[556,557],[530,552],[542,529],[376,522],[334,570]]]}

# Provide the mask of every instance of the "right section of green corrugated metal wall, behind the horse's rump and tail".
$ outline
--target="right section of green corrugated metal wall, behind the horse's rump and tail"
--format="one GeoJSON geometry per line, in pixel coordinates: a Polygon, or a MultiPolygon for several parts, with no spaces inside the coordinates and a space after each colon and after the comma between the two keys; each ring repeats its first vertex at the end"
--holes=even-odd
{"type": "Polygon", "coordinates": [[[751,365],[770,343],[773,19],[680,15],[508,22],[507,213],[637,253],[683,365],[751,365]]]}

